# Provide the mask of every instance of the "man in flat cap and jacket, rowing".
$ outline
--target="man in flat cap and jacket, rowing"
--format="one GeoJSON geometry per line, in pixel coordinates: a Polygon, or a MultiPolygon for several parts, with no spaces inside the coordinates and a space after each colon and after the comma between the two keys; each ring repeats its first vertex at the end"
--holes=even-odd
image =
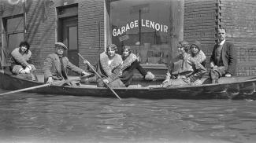
{"type": "Polygon", "coordinates": [[[47,84],[54,83],[54,80],[68,79],[67,69],[76,72],[78,75],[89,75],[83,69],[69,62],[68,57],[63,54],[66,49],[68,48],[62,42],[56,42],[55,53],[51,53],[46,57],[43,63],[43,74],[47,84]]]}

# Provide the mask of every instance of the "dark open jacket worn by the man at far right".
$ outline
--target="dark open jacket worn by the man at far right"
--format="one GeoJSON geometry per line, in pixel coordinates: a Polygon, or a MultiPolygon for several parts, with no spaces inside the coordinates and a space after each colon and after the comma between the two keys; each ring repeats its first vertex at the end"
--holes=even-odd
{"type": "MultiPolygon", "coordinates": [[[[217,44],[213,48],[212,56],[210,57],[210,63],[217,65],[217,44]]],[[[232,42],[224,42],[221,50],[221,61],[224,64],[225,71],[234,74],[236,72],[236,49],[232,42]]]]}

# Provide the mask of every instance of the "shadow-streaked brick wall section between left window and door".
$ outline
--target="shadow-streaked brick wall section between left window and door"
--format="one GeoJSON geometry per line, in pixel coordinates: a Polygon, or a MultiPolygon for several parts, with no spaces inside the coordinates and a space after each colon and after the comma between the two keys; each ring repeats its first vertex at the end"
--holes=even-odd
{"type": "Polygon", "coordinates": [[[32,63],[37,72],[42,72],[43,61],[49,53],[54,53],[56,13],[54,6],[46,6],[44,1],[27,1],[27,35],[32,50],[32,63]]]}

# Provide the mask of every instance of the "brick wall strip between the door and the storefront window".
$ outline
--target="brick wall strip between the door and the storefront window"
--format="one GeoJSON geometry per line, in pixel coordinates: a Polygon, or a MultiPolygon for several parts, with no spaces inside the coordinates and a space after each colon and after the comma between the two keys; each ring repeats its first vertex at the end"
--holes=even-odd
{"type": "Polygon", "coordinates": [[[81,0],[78,13],[80,53],[95,64],[104,51],[104,0],[81,0]]]}

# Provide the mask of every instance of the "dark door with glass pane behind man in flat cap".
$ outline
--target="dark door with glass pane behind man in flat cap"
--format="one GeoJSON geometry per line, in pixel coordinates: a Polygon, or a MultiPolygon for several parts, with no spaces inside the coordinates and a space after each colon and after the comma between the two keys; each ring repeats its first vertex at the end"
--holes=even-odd
{"type": "MultiPolygon", "coordinates": [[[[62,33],[63,33],[63,42],[65,46],[68,47],[67,57],[72,64],[78,66],[79,57],[78,57],[78,36],[77,36],[77,16],[72,18],[66,18],[62,21],[62,33]]],[[[75,73],[68,71],[69,75],[75,75],[75,73]]]]}

